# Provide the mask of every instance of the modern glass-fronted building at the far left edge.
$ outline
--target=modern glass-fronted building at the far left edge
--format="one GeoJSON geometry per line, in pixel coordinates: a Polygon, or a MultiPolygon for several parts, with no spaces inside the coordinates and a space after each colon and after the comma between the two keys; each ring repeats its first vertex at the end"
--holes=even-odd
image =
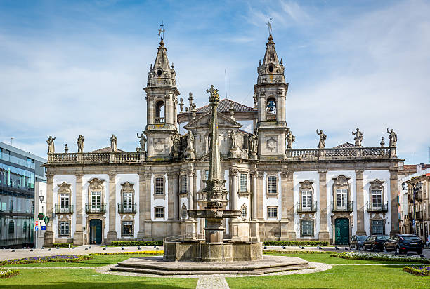
{"type": "Polygon", "coordinates": [[[45,162],[0,142],[0,248],[34,246],[34,184],[46,182],[45,162]]]}

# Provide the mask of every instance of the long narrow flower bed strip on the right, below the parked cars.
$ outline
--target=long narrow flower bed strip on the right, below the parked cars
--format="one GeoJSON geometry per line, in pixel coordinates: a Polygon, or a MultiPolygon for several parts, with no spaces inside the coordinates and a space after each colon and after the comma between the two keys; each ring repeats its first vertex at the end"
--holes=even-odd
{"type": "Polygon", "coordinates": [[[381,253],[363,253],[363,252],[342,252],[332,253],[330,256],[343,259],[356,259],[356,260],[376,260],[376,261],[400,261],[400,262],[417,262],[430,264],[430,260],[415,256],[402,256],[402,255],[388,255],[381,253]]]}

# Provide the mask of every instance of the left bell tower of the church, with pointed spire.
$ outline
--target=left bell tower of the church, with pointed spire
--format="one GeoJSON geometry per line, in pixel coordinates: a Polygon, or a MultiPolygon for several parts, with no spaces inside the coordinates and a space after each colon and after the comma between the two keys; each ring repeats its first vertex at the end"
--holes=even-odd
{"type": "Polygon", "coordinates": [[[161,41],[154,65],[150,65],[146,93],[146,128],[148,137],[147,159],[163,160],[173,156],[174,137],[179,135],[176,119],[178,95],[174,65],[169,65],[167,49],[164,46],[164,29],[159,29],[161,41]]]}

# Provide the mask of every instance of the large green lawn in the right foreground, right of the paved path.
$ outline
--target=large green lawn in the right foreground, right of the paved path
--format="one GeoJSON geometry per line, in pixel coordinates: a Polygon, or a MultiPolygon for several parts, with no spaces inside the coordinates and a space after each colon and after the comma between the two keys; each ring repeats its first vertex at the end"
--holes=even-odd
{"type": "Polygon", "coordinates": [[[226,278],[231,289],[240,288],[430,288],[430,276],[415,276],[402,267],[337,266],[300,275],[226,278]]]}

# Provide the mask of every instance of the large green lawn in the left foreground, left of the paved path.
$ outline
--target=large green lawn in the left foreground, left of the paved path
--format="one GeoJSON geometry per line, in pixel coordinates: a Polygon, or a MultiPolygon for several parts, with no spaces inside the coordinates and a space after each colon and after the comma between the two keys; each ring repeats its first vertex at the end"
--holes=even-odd
{"type": "Polygon", "coordinates": [[[0,279],[0,288],[195,288],[197,278],[145,278],[99,274],[94,269],[20,269],[20,275],[0,279]]]}

